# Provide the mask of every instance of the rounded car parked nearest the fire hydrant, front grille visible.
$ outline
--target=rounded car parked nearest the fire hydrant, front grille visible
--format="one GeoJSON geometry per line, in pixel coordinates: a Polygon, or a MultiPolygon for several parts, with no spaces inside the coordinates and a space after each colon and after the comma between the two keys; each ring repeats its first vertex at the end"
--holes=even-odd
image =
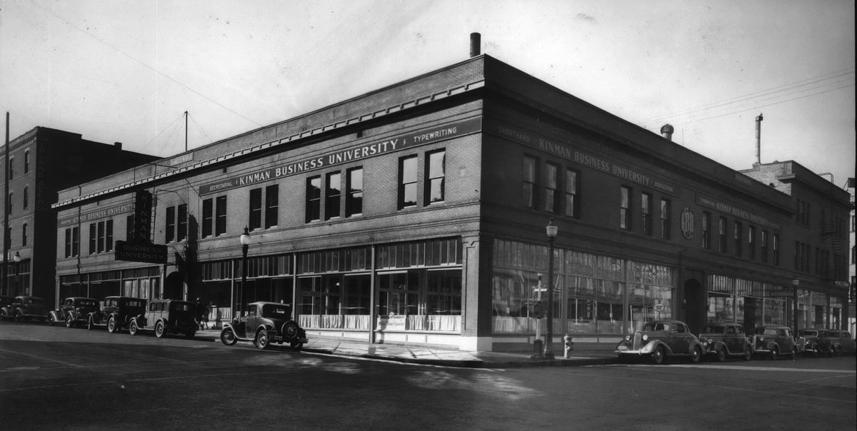
{"type": "Polygon", "coordinates": [[[684,322],[679,320],[655,320],[646,323],[643,329],[626,335],[616,345],[620,362],[630,358],[651,358],[661,364],[668,356],[686,356],[699,362],[703,345],[684,322]]]}

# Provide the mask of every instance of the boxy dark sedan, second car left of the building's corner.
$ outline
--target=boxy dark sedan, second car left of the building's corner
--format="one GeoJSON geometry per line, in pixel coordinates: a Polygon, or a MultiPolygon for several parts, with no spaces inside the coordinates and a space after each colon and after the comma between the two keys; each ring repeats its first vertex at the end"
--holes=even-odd
{"type": "Polygon", "coordinates": [[[194,320],[195,304],[174,299],[153,299],[146,307],[146,313],[134,316],[128,323],[128,332],[136,335],[142,330],[154,331],[155,337],[163,338],[167,334],[183,333],[193,338],[196,333],[194,320]]]}

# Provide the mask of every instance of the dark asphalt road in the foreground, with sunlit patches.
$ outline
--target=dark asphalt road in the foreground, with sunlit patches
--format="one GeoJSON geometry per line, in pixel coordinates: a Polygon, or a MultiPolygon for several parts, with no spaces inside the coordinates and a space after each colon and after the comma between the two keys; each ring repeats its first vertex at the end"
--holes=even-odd
{"type": "Polygon", "coordinates": [[[3,429],[854,429],[854,356],[473,369],[0,322],[3,429]]]}

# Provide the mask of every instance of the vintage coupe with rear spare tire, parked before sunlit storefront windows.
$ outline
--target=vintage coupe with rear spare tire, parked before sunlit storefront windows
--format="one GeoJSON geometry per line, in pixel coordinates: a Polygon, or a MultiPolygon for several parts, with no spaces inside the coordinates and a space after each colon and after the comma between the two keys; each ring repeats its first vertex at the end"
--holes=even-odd
{"type": "Polygon", "coordinates": [[[291,319],[291,308],[278,302],[251,302],[246,314],[225,323],[220,341],[232,345],[238,340],[252,341],[260,349],[267,349],[271,343],[288,343],[300,349],[308,341],[303,328],[291,319]]]}

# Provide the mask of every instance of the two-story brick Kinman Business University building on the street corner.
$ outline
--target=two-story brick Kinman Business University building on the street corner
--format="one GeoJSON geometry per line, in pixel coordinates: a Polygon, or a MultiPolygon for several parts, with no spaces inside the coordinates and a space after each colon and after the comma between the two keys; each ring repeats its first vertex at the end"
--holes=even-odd
{"type": "MultiPolygon", "coordinates": [[[[794,314],[793,196],[483,55],[63,190],[54,208],[58,296],[201,297],[213,320],[282,301],[316,336],[521,348],[545,329],[548,284],[557,340],[794,314]],[[154,263],[117,260],[102,224],[114,240],[151,230],[154,263]]],[[[844,290],[805,273],[798,301],[826,295],[838,324],[844,290]]]]}

